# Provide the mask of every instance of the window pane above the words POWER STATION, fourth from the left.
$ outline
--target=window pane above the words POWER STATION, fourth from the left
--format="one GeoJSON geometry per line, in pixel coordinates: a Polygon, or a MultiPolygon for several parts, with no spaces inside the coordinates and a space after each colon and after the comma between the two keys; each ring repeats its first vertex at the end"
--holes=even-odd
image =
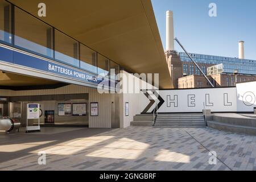
{"type": "Polygon", "coordinates": [[[97,74],[97,53],[80,44],[80,68],[97,74]]]}

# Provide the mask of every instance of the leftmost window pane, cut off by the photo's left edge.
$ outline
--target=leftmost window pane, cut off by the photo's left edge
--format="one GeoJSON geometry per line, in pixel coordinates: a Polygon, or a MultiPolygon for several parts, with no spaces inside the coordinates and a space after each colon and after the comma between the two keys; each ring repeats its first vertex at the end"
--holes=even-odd
{"type": "Polygon", "coordinates": [[[11,5],[0,0],[0,40],[11,43],[11,5]]]}

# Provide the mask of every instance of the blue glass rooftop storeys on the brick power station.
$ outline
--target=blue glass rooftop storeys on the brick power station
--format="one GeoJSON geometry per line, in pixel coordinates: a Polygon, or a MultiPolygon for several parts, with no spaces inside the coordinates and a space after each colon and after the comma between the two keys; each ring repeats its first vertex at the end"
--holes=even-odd
{"type": "MultiPolygon", "coordinates": [[[[196,63],[200,65],[223,64],[224,73],[234,73],[234,70],[237,69],[239,74],[256,75],[256,60],[238,59],[233,57],[222,57],[222,56],[212,56],[212,55],[201,55],[201,54],[195,54],[195,53],[190,53],[190,54],[193,60],[195,60],[196,63]]],[[[192,63],[192,61],[189,59],[189,57],[185,52],[180,52],[179,55],[180,55],[180,60],[183,62],[183,64],[192,63]]],[[[206,70],[203,70],[203,71],[206,72],[206,70]]]]}

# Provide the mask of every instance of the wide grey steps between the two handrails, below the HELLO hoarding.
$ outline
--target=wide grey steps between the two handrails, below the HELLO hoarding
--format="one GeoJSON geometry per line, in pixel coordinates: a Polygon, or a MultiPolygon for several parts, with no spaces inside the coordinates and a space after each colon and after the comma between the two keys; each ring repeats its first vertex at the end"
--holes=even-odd
{"type": "Polygon", "coordinates": [[[155,127],[197,128],[205,127],[203,114],[158,114],[155,127]]]}

